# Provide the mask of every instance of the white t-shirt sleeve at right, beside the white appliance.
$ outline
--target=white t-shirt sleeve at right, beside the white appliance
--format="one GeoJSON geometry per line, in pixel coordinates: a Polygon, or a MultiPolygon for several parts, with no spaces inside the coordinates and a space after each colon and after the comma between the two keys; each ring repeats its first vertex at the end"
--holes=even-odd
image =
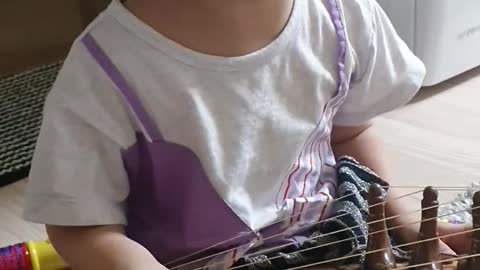
{"type": "Polygon", "coordinates": [[[349,93],[333,121],[337,126],[362,125],[408,103],[426,73],[424,64],[398,36],[378,3],[358,2],[368,3],[369,9],[360,15],[361,19],[353,19],[347,29],[356,39],[351,41],[357,56],[356,68],[349,93]]]}

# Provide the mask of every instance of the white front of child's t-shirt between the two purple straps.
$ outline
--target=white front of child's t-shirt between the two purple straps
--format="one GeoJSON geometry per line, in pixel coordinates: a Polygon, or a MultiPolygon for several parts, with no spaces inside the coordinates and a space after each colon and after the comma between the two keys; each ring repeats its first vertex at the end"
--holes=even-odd
{"type": "MultiPolygon", "coordinates": [[[[192,150],[220,196],[257,229],[279,218],[285,199],[317,193],[322,168],[335,164],[325,110],[338,93],[338,39],[329,13],[311,10],[327,7],[296,1],[276,40],[235,58],[173,44],[118,3],[92,34],[164,139],[192,150]]],[[[112,136],[128,148],[133,129],[112,136]]]]}

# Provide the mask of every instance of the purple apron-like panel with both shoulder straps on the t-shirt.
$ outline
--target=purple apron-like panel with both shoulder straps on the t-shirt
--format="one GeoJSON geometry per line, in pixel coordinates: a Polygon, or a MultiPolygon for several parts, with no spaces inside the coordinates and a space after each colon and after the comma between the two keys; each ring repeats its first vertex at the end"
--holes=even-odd
{"type": "MultiPolygon", "coordinates": [[[[340,7],[336,0],[329,2],[339,44],[338,92],[327,103],[322,116],[327,123],[327,136],[322,143],[331,150],[328,138],[332,118],[347,94],[348,83],[345,78],[346,34],[340,7]]],[[[294,227],[295,222],[290,220],[287,227],[283,223],[277,223],[259,231],[252,231],[217,194],[195,153],[184,146],[163,140],[135,91],[94,38],[86,34],[82,42],[115,84],[142,131],[137,134],[136,144],[122,153],[130,183],[126,202],[128,237],[143,245],[159,262],[167,264],[168,267],[184,263],[186,260],[179,260],[184,257],[192,261],[208,256],[210,259],[200,262],[201,265],[223,262],[221,267],[210,267],[213,269],[230,266],[258,244],[261,238],[294,227]],[[215,255],[217,253],[219,254],[215,255]],[[192,254],[195,256],[190,256],[192,254]],[[171,262],[175,263],[169,264],[171,262]]],[[[331,163],[335,163],[331,151],[329,159],[331,163]]],[[[334,174],[330,173],[332,180],[329,181],[335,184],[334,174]]],[[[322,177],[326,177],[325,174],[322,177]]],[[[325,208],[322,204],[310,207],[310,210],[321,212],[322,218],[325,208]]],[[[292,239],[288,236],[276,238],[274,241],[262,242],[262,246],[278,245],[293,241],[292,239]]],[[[190,266],[187,269],[195,267],[190,266]]]]}

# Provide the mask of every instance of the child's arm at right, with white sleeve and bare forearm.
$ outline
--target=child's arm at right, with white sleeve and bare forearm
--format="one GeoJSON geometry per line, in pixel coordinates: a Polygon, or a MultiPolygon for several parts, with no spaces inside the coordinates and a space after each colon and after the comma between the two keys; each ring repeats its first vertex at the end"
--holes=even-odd
{"type": "MultiPolygon", "coordinates": [[[[425,66],[396,33],[387,15],[375,0],[343,1],[346,28],[355,56],[355,70],[350,89],[333,119],[332,147],[337,157],[352,156],[370,167],[387,182],[388,160],[381,138],[375,136],[369,121],[410,101],[420,89],[425,66]]],[[[398,179],[398,181],[402,181],[398,179]]],[[[387,199],[397,197],[391,189],[387,199]]],[[[390,226],[410,224],[419,216],[404,215],[418,210],[418,202],[408,199],[387,204],[387,215],[402,214],[389,220],[390,226]],[[410,208],[409,208],[410,207],[410,208]],[[412,209],[415,207],[417,209],[412,209]]],[[[415,241],[418,224],[395,230],[403,241],[415,241]]]]}

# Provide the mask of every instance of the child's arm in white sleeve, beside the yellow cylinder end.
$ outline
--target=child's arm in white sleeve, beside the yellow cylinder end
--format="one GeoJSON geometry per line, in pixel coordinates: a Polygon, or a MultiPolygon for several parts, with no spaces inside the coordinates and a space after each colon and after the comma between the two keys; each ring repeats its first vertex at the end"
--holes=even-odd
{"type": "Polygon", "coordinates": [[[24,211],[50,225],[74,270],[165,269],[123,232],[130,182],[122,153],[135,133],[114,85],[76,42],[45,102],[24,211]]]}

